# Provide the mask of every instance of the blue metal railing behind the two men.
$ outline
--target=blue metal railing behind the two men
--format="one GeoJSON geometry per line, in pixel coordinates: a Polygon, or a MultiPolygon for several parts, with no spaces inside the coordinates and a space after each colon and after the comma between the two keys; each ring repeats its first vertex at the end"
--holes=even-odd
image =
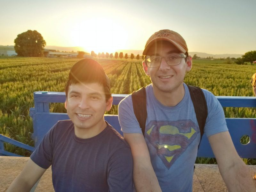
{"type": "MultiPolygon", "coordinates": [[[[112,94],[113,105],[119,102],[127,95],[112,94]]],[[[256,107],[255,97],[228,97],[216,96],[222,107],[256,107]]],[[[30,116],[33,118],[34,133],[32,138],[35,141],[35,147],[38,146],[45,133],[58,121],[69,119],[66,113],[50,113],[49,103],[64,103],[66,100],[65,92],[34,92],[35,108],[30,108],[30,116]]],[[[121,127],[117,115],[105,115],[105,119],[119,132],[121,127]]],[[[256,158],[256,119],[255,118],[226,118],[227,126],[236,147],[238,154],[244,158],[256,158]],[[242,136],[248,135],[250,142],[246,145],[241,144],[242,136]]],[[[10,154],[4,150],[3,142],[34,151],[30,147],[8,137],[0,135],[0,155],[18,156],[10,154]]],[[[197,156],[214,157],[212,149],[205,134],[203,135],[197,156]]]]}

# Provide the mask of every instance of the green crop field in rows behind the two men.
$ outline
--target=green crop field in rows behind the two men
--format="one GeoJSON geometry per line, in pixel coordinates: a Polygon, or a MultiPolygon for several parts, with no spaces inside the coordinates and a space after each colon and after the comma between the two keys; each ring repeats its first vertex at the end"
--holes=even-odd
{"type": "MultiPolygon", "coordinates": [[[[33,122],[29,108],[34,107],[33,92],[64,92],[70,68],[81,59],[0,57],[0,134],[34,146],[33,122]]],[[[98,60],[110,79],[111,92],[130,94],[150,83],[141,60],[98,60]]],[[[223,60],[194,60],[185,83],[211,91],[216,96],[253,96],[250,80],[256,66],[225,64],[223,60]]],[[[65,113],[64,104],[53,103],[51,112],[65,113]]],[[[255,108],[224,108],[226,117],[256,118],[255,108]]],[[[117,114],[113,106],[108,114],[117,114]]],[[[30,156],[30,152],[4,143],[6,150],[30,156]]],[[[256,159],[243,159],[256,165],[256,159]]],[[[197,163],[216,163],[198,158],[197,163]]]]}

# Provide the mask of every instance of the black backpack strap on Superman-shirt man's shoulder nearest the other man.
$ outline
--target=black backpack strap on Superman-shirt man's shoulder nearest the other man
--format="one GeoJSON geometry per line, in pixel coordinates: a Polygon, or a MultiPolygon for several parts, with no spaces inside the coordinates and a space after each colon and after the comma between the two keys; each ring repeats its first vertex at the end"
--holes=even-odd
{"type": "Polygon", "coordinates": [[[147,120],[147,103],[146,103],[146,88],[142,87],[138,91],[132,93],[132,105],[134,115],[136,116],[142,134],[144,135],[146,120],[147,120]]]}

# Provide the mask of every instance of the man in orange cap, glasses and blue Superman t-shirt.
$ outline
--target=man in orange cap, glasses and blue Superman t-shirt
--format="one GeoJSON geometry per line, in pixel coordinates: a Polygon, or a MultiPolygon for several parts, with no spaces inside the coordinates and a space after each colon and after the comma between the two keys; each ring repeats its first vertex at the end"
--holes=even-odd
{"type": "MultiPolygon", "coordinates": [[[[192,67],[187,44],[180,34],[160,30],[148,39],[143,55],[143,69],[152,82],[146,87],[144,136],[134,115],[132,96],[128,95],[118,107],[124,139],[132,151],[136,191],[192,191],[200,129],[188,86],[183,83],[192,67]]],[[[220,103],[211,92],[203,89],[203,93],[208,110],[204,133],[228,190],[254,191],[247,167],[230,138],[220,103]]]]}

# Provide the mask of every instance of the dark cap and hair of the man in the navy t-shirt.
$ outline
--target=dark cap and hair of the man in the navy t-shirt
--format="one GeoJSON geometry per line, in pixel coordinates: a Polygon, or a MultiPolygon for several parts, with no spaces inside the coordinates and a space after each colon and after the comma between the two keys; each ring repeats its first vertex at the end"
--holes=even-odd
{"type": "Polygon", "coordinates": [[[99,83],[103,85],[106,101],[111,97],[110,82],[102,66],[96,60],[82,59],[70,69],[68,82],[65,87],[66,97],[71,84],[77,83],[99,83]]]}

